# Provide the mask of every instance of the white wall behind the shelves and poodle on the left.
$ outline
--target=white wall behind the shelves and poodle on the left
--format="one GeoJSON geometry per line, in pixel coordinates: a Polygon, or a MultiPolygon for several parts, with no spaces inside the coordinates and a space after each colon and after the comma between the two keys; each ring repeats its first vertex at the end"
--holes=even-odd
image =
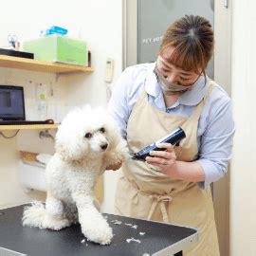
{"type": "MultiPolygon", "coordinates": [[[[67,27],[74,37],[87,42],[92,52],[94,72],[56,76],[39,72],[28,72],[0,68],[0,82],[25,86],[27,118],[36,119],[35,88],[43,82],[53,96],[48,97],[50,115],[56,120],[63,118],[66,111],[76,105],[90,103],[106,105],[106,86],[103,82],[106,57],[115,60],[114,82],[121,72],[121,1],[119,0],[73,0],[73,1],[5,1],[0,16],[0,46],[7,46],[9,34],[16,34],[22,41],[35,39],[42,28],[51,25],[67,27]],[[57,105],[57,107],[55,107],[57,105]]],[[[6,132],[7,133],[7,132],[6,132]]],[[[6,134],[5,133],[5,134],[6,134]]],[[[12,134],[8,132],[7,134],[12,134]]],[[[0,208],[30,201],[41,193],[26,194],[17,179],[18,150],[53,152],[52,142],[41,140],[38,131],[21,131],[18,139],[0,137],[0,208]]],[[[112,212],[114,184],[117,174],[105,174],[105,201],[103,210],[112,212]]]]}

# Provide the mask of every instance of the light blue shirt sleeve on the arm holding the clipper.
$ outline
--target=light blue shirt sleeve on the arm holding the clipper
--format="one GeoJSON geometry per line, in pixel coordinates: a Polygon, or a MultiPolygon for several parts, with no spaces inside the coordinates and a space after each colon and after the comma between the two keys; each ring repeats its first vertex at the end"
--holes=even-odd
{"type": "Polygon", "coordinates": [[[198,183],[202,189],[227,173],[235,133],[231,102],[228,97],[213,104],[209,111],[208,125],[200,138],[197,159],[205,172],[205,181],[198,183]]]}

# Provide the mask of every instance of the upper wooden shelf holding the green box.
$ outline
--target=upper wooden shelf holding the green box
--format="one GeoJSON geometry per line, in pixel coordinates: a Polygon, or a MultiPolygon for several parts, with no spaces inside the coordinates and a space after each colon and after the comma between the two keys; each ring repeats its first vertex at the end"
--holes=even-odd
{"type": "Polygon", "coordinates": [[[7,55],[0,55],[0,67],[18,68],[57,74],[93,71],[93,69],[88,66],[42,62],[7,55]]]}

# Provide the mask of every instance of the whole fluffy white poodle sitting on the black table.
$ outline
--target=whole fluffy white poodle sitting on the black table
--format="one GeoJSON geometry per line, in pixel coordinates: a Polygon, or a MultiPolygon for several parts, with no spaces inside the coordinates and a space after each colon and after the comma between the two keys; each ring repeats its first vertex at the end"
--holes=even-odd
{"type": "Polygon", "coordinates": [[[94,187],[107,166],[127,157],[117,124],[102,108],[75,109],[58,129],[55,150],[46,166],[46,207],[32,203],[23,225],[60,230],[79,221],[89,241],[110,244],[112,229],[96,208],[94,187]]]}

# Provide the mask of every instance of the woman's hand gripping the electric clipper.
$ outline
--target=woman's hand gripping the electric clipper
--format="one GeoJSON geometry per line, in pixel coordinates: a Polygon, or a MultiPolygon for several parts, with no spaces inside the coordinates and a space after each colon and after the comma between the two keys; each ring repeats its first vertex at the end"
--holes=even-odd
{"type": "Polygon", "coordinates": [[[173,176],[176,166],[176,155],[174,146],[171,143],[161,143],[158,148],[166,149],[165,151],[152,151],[151,156],[146,157],[149,164],[155,165],[162,170],[163,174],[173,176]]]}

